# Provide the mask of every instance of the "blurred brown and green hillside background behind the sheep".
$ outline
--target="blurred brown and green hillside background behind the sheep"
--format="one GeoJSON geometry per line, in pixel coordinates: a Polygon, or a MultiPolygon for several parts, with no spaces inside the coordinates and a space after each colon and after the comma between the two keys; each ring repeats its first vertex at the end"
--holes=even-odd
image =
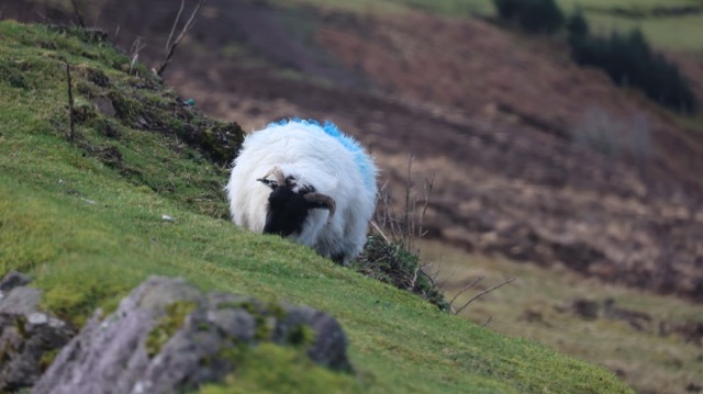
{"type": "MultiPolygon", "coordinates": [[[[103,30],[156,68],[198,3],[0,0],[0,18],[103,30]]],[[[640,393],[703,392],[703,1],[201,5],[166,82],[247,132],[300,116],[358,138],[390,211],[427,202],[414,246],[455,309],[516,278],[461,316],[640,393]]]]}

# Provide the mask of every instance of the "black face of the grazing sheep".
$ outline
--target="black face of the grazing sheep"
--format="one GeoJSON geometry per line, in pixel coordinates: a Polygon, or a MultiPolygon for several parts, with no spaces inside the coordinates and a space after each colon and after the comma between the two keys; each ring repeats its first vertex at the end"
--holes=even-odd
{"type": "Polygon", "coordinates": [[[315,207],[305,200],[305,194],[309,192],[308,189],[294,192],[290,187],[276,187],[268,196],[264,233],[278,234],[281,237],[300,233],[308,217],[308,211],[315,207]]]}

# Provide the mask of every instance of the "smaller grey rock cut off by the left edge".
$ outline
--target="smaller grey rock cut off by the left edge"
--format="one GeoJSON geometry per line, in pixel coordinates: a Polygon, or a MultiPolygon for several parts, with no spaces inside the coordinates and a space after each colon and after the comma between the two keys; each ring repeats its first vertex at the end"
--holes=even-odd
{"type": "Polygon", "coordinates": [[[19,272],[0,280],[0,393],[34,384],[75,335],[68,324],[38,311],[42,292],[29,283],[19,272]]]}

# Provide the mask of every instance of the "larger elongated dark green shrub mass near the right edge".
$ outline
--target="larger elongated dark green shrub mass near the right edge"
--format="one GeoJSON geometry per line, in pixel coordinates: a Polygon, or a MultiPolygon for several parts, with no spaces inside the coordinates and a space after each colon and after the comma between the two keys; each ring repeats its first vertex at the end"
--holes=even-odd
{"type": "MultiPolygon", "coordinates": [[[[572,16],[573,22],[576,16],[572,16]]],[[[588,32],[588,25],[587,25],[588,32]]],[[[698,103],[689,82],[678,67],[651,50],[639,30],[609,37],[581,35],[578,26],[569,30],[573,59],[580,65],[603,69],[621,86],[641,90],[657,103],[681,113],[693,113],[698,103]]]]}

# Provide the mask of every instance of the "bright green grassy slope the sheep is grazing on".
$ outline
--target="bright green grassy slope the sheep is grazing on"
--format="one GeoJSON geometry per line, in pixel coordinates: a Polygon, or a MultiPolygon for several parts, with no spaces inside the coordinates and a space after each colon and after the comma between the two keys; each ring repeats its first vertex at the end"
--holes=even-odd
{"type": "MultiPolygon", "coordinates": [[[[171,91],[143,67],[130,71],[130,59],[94,35],[1,22],[0,70],[0,274],[27,272],[60,317],[80,325],[146,277],[179,275],[337,317],[357,374],[354,384],[330,380],[325,392],[631,392],[603,368],[443,314],[279,237],[236,229],[221,193],[226,167],[192,147],[212,147],[212,133],[183,143],[193,127],[235,127],[183,113],[171,91]],[[72,143],[64,58],[77,100],[72,143]]],[[[263,367],[244,368],[241,379],[265,379],[263,367]]]]}

